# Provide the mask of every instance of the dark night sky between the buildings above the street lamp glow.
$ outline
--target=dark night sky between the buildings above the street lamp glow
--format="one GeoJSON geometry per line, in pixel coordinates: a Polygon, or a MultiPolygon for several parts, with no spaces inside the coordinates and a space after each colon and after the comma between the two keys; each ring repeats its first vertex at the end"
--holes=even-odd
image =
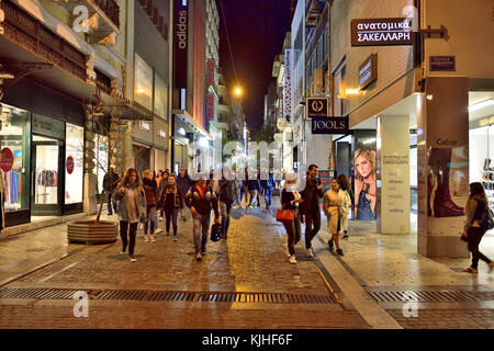
{"type": "Polygon", "coordinates": [[[239,84],[244,88],[247,127],[258,131],[263,122],[265,94],[272,79],[272,63],[281,54],[291,30],[290,0],[216,0],[220,14],[220,67],[227,88],[235,86],[222,1],[239,84]]]}

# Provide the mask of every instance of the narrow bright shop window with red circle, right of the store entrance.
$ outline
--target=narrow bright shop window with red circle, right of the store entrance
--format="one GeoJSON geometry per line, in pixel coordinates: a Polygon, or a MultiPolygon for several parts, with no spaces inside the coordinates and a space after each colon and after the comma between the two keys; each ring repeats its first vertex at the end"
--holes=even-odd
{"type": "Polygon", "coordinates": [[[85,128],[74,124],[66,127],[65,203],[82,202],[85,128]]]}

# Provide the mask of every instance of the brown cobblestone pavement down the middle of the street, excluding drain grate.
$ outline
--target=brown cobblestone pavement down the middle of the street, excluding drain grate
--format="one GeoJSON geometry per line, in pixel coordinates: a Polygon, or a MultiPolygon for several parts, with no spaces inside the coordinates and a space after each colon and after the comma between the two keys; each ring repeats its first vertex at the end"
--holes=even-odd
{"type": "MultiPolygon", "coordinates": [[[[114,217],[116,219],[116,217],[114,217]]],[[[165,228],[165,223],[160,222],[165,228]]],[[[328,295],[316,264],[300,244],[297,264],[285,256],[282,226],[272,213],[235,210],[227,241],[209,240],[194,259],[192,223],[179,222],[178,241],[137,237],[131,263],[113,245],[85,247],[3,287],[258,292],[328,295]]],[[[57,228],[61,231],[61,228],[57,228]]],[[[164,234],[164,233],[161,233],[164,234]]],[[[25,234],[24,234],[25,235],[25,234]]],[[[57,234],[59,235],[59,234],[57,234]]],[[[0,328],[368,328],[339,304],[226,304],[90,301],[89,317],[74,317],[74,301],[0,299],[0,328]]]]}

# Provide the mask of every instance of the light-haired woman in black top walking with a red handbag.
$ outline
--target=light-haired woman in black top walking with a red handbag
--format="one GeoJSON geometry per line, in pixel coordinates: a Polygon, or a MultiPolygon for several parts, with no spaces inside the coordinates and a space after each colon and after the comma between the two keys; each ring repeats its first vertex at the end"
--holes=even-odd
{"type": "Polygon", "coordinates": [[[301,237],[301,217],[303,208],[299,204],[303,202],[302,195],[296,191],[296,174],[288,174],[287,182],[283,185],[283,191],[281,192],[281,207],[283,210],[294,211],[294,217],[291,222],[283,222],[284,229],[288,234],[288,253],[290,258],[290,263],[295,264],[295,249],[294,245],[300,241],[301,237]]]}

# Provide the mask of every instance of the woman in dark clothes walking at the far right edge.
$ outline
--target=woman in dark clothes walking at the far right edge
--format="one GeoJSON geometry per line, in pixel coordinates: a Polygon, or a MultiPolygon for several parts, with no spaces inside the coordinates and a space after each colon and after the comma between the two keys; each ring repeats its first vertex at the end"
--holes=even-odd
{"type": "Polygon", "coordinates": [[[472,264],[463,271],[479,273],[479,259],[489,264],[489,272],[492,272],[494,262],[479,251],[479,245],[487,231],[487,219],[490,217],[489,201],[484,186],[480,182],[470,184],[470,196],[464,210],[467,215],[463,237],[468,242],[469,251],[472,252],[472,264]]]}

